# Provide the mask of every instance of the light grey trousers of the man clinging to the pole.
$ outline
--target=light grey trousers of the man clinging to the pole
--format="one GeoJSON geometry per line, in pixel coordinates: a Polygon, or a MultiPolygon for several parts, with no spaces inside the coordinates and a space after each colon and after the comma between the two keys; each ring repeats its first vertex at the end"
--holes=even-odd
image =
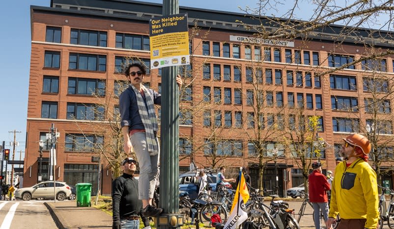
{"type": "MultiPolygon", "coordinates": [[[[151,156],[146,147],[145,132],[137,132],[130,136],[131,144],[136,152],[140,165],[140,179],[138,181],[138,197],[140,200],[153,199],[156,180],[159,178],[159,154],[151,156]]],[[[156,138],[157,145],[159,140],[156,138]]]]}

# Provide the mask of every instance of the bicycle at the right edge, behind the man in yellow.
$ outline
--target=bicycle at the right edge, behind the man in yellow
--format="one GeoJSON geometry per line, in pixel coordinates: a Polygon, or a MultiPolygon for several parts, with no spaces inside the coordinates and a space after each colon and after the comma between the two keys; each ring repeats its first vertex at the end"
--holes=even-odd
{"type": "Polygon", "coordinates": [[[387,221],[389,228],[394,229],[394,190],[380,185],[378,187],[382,189],[382,195],[379,199],[379,229],[383,228],[384,221],[387,221]],[[387,191],[390,193],[390,204],[386,207],[385,194],[387,191]]]}

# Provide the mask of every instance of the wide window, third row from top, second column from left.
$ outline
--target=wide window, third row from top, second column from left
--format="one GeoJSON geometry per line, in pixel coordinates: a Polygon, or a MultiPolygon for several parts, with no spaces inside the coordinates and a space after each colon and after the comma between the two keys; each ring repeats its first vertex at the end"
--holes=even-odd
{"type": "Polygon", "coordinates": [[[68,78],[67,94],[105,96],[104,79],[68,78]]]}

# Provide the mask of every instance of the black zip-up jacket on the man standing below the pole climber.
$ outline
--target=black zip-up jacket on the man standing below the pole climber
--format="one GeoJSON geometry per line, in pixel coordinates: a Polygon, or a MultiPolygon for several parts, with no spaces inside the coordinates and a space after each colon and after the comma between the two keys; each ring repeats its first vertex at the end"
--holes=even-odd
{"type": "MultiPolygon", "coordinates": [[[[113,222],[128,216],[142,216],[142,201],[138,199],[138,180],[128,174],[112,182],[113,222]]],[[[144,217],[142,218],[144,221],[144,217]]]]}

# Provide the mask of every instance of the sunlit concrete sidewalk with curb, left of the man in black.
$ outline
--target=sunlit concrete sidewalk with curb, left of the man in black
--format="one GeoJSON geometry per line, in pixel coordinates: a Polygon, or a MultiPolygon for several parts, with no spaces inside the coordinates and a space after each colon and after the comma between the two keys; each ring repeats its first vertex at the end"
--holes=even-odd
{"type": "Polygon", "coordinates": [[[112,216],[94,207],[77,207],[75,201],[45,202],[59,229],[109,229],[112,216]]]}

